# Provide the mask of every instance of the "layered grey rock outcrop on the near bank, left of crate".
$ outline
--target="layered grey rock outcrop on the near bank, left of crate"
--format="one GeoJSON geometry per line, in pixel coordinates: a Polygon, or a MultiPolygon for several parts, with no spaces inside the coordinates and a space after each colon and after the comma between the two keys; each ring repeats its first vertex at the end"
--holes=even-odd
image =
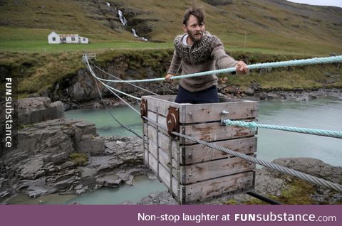
{"type": "Polygon", "coordinates": [[[19,123],[18,148],[0,156],[0,203],[17,193],[35,198],[131,184],[149,173],[140,139],[98,136],[95,124],[64,118],[61,102],[22,99],[19,123]]]}

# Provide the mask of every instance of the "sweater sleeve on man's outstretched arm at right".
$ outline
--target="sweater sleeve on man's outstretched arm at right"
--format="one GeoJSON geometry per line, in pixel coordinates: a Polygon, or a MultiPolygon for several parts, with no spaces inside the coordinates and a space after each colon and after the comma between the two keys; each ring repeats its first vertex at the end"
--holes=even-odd
{"type": "Polygon", "coordinates": [[[216,60],[217,67],[219,69],[224,68],[234,68],[239,61],[234,60],[231,58],[227,53],[224,51],[222,42],[217,38],[217,45],[212,50],[212,58],[216,60]]]}

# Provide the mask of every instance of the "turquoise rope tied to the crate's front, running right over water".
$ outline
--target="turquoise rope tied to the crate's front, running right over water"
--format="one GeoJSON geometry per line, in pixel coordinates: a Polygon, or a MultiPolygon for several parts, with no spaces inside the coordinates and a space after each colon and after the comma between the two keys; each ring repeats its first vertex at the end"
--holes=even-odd
{"type": "Polygon", "coordinates": [[[333,131],[333,130],[325,130],[325,129],[284,127],[284,126],[259,124],[257,122],[244,122],[244,121],[230,120],[230,119],[223,120],[222,124],[225,124],[227,126],[276,129],[276,130],[281,130],[281,131],[292,131],[292,132],[301,133],[301,134],[311,134],[311,135],[318,135],[318,136],[328,136],[328,137],[333,137],[333,138],[342,138],[342,131],[333,131]]]}

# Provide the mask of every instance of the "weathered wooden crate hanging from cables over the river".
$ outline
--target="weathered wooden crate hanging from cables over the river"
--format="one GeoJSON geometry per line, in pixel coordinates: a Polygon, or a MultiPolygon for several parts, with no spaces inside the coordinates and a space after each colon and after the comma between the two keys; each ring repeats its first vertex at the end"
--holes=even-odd
{"type": "Polygon", "coordinates": [[[142,114],[160,124],[144,120],[145,164],[180,204],[254,189],[254,163],[172,136],[166,128],[169,108],[174,107],[179,112],[180,133],[255,156],[257,131],[222,126],[221,120],[255,120],[258,102],[220,98],[215,104],[177,104],[174,95],[144,96],[142,99],[145,104],[144,109],[140,108],[142,114]]]}

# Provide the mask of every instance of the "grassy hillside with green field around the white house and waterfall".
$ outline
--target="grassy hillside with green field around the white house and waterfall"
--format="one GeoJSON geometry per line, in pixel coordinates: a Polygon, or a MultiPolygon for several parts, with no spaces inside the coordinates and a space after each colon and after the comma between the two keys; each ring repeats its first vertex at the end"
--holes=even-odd
{"type": "MultiPolygon", "coordinates": [[[[342,53],[341,8],[285,0],[204,0],[197,4],[207,12],[207,30],[219,36],[227,50],[297,55],[342,53]]],[[[3,0],[0,50],[51,53],[170,48],[175,35],[182,33],[182,14],[188,6],[190,1],[180,0],[3,0]],[[123,11],[128,27],[121,25],[115,9],[123,11]],[[158,42],[138,41],[130,28],[158,42]],[[78,33],[90,38],[90,44],[47,45],[51,31],[78,33]]]]}

